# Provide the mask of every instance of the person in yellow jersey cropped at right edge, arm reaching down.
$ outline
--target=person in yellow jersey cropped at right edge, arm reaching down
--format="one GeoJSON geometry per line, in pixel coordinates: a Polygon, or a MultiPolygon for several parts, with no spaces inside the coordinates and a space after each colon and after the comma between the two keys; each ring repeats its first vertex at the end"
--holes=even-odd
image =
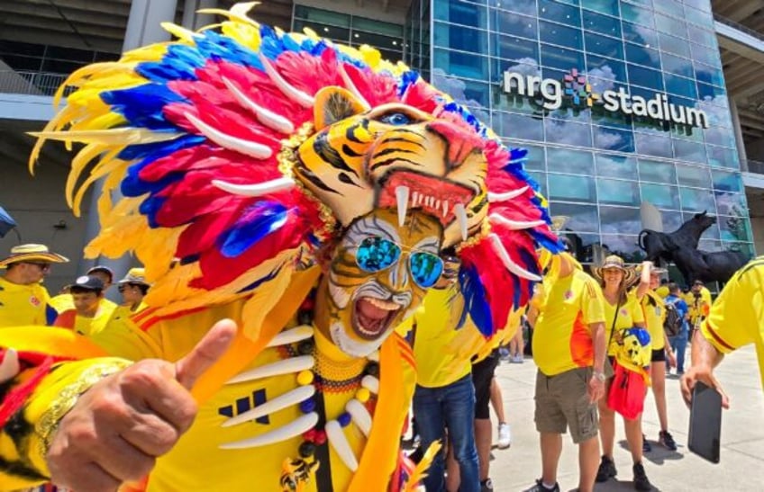
{"type": "Polygon", "coordinates": [[[714,376],[714,368],[731,353],[754,344],[759,358],[761,388],[764,389],[764,256],[743,266],[724,285],[719,297],[692,344],[692,366],[681,379],[682,396],[689,404],[697,381],[722,393],[722,405],[730,398],[714,376]]]}

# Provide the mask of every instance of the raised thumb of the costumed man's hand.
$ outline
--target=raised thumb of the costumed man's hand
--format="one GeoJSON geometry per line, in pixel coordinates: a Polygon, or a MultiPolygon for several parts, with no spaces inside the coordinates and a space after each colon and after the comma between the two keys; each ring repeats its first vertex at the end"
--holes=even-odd
{"type": "Polygon", "coordinates": [[[221,319],[215,323],[194,349],[175,364],[177,382],[191,389],[199,376],[228,350],[235,335],[236,323],[231,319],[221,319]]]}

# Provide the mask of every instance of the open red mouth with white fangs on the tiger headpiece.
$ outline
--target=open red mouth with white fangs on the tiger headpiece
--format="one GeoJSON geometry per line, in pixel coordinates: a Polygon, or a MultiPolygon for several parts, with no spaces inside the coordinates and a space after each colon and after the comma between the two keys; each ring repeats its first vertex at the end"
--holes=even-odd
{"type": "Polygon", "coordinates": [[[420,209],[441,220],[443,227],[455,220],[466,222],[464,212],[475,192],[440,176],[396,171],[390,174],[379,196],[379,205],[405,212],[420,209]]]}

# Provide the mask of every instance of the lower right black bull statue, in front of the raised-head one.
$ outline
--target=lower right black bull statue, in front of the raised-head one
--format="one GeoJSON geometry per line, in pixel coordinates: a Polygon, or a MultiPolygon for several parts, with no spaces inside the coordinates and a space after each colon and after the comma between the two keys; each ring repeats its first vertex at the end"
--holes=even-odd
{"type": "Polygon", "coordinates": [[[703,282],[727,282],[749,260],[740,251],[716,251],[713,253],[694,248],[679,247],[672,252],[674,263],[685,277],[687,285],[696,280],[703,282]]]}

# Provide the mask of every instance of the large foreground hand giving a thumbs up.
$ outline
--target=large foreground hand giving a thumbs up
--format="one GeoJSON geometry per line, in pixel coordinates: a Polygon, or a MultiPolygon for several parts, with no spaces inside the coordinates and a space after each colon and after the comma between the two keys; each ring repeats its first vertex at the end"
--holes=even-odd
{"type": "Polygon", "coordinates": [[[100,492],[142,479],[194,422],[190,389],[235,334],[236,325],[224,319],[177,363],[136,362],[88,389],[53,436],[47,456],[51,481],[100,492]]]}

